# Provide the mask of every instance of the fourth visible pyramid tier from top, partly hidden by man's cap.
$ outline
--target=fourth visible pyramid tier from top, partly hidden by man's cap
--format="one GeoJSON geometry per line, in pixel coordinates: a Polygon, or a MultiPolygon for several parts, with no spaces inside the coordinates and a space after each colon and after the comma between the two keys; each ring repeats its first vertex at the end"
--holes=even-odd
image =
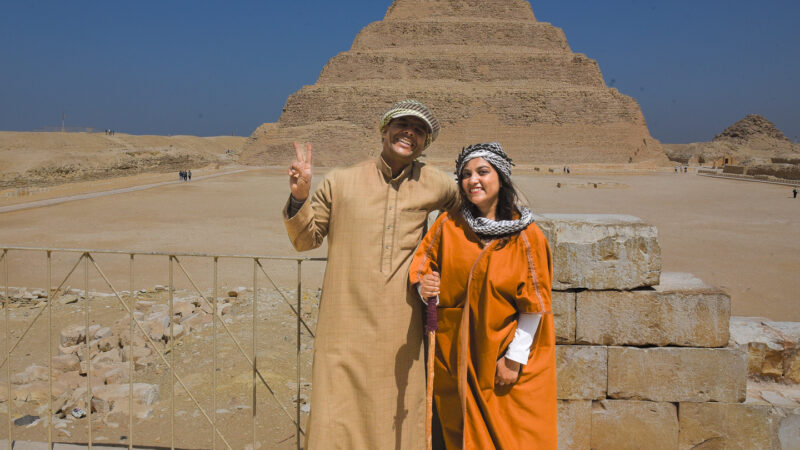
{"type": "Polygon", "coordinates": [[[567,87],[553,83],[474,83],[406,81],[305,86],[286,102],[280,126],[346,120],[368,129],[398,98],[417,98],[442,127],[491,112],[508,126],[533,124],[631,123],[644,127],[636,102],[614,89],[567,87]],[[370,101],[364,101],[364,99],[370,101]],[[319,105],[325,105],[320,108],[319,105]]]}

